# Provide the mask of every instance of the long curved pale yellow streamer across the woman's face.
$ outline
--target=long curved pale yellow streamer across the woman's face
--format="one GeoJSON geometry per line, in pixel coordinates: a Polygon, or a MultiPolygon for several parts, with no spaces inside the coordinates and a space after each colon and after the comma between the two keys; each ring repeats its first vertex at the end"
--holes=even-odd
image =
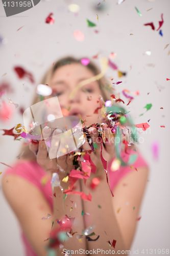
{"type": "Polygon", "coordinates": [[[95,80],[97,80],[97,79],[100,79],[100,78],[102,78],[102,77],[105,75],[105,73],[106,73],[106,71],[107,71],[107,68],[108,68],[108,59],[107,59],[107,58],[101,58],[101,59],[100,59],[100,62],[101,62],[101,66],[102,66],[102,72],[101,72],[100,74],[96,75],[96,76],[93,76],[93,77],[91,77],[91,78],[88,78],[88,79],[86,79],[86,80],[80,82],[80,83],[77,85],[77,87],[75,87],[75,89],[72,90],[72,92],[70,93],[69,99],[72,99],[72,98],[74,97],[75,93],[76,93],[82,86],[85,86],[85,84],[88,84],[88,83],[93,82],[93,81],[95,81],[95,80]]]}

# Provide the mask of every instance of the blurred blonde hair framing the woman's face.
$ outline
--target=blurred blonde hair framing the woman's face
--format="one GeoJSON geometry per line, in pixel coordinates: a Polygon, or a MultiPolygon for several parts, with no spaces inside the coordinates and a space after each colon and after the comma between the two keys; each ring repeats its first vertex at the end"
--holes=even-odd
{"type": "MultiPolygon", "coordinates": [[[[39,83],[40,84],[48,84],[50,86],[50,82],[54,75],[54,72],[58,68],[60,68],[64,65],[69,65],[71,63],[80,63],[82,65],[81,58],[76,59],[71,56],[61,58],[50,69],[48,69],[46,71],[46,73],[44,74],[44,76],[42,77],[42,79],[40,80],[39,83]]],[[[94,75],[98,75],[101,72],[100,69],[92,61],[89,62],[89,64],[86,66],[86,68],[88,68],[94,75]]],[[[110,95],[113,92],[112,92],[111,87],[109,86],[108,80],[105,77],[102,77],[101,79],[98,80],[98,82],[99,82],[99,87],[102,91],[103,100],[104,101],[110,100],[111,99],[110,95]]],[[[40,101],[40,97],[36,94],[31,105],[34,105],[39,101],[40,101]]],[[[33,152],[30,151],[29,145],[24,145],[24,143],[23,143],[20,152],[23,152],[23,151],[25,151],[25,152],[23,153],[21,159],[36,161],[36,157],[33,154],[33,152]]]]}

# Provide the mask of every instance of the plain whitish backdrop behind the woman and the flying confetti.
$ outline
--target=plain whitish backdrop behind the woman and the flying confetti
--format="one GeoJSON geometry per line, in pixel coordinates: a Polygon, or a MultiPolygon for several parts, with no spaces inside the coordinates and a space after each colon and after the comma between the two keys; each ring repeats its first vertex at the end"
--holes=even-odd
{"type": "MultiPolygon", "coordinates": [[[[147,122],[150,129],[142,134],[144,143],[140,144],[143,157],[150,165],[150,176],[140,211],[141,219],[138,222],[136,236],[131,250],[139,249],[169,249],[169,93],[170,79],[169,59],[170,45],[170,2],[168,0],[126,0],[117,5],[117,0],[44,0],[32,9],[17,15],[6,17],[2,2],[0,3],[0,36],[7,38],[6,45],[0,45],[0,85],[6,81],[11,84],[14,93],[7,93],[19,107],[27,109],[33,99],[36,84],[54,61],[65,55],[75,57],[89,57],[99,54],[99,57],[108,57],[111,52],[116,53],[112,61],[118,69],[127,72],[127,76],[118,78],[117,72],[108,69],[107,76],[113,81],[123,81],[115,88],[123,97],[122,91],[128,89],[133,95],[134,91],[140,94],[134,96],[127,110],[136,124],[147,122]],[[104,11],[96,7],[101,2],[104,11]],[[77,15],[67,8],[69,4],[78,4],[80,11],[77,15]],[[142,16],[137,14],[135,6],[142,16]],[[152,10],[149,10],[153,8],[152,10]],[[149,10],[149,11],[147,11],[149,10]],[[54,13],[54,25],[46,24],[45,18],[54,13]],[[163,36],[156,31],[159,27],[163,13],[164,24],[161,28],[163,36]],[[99,15],[99,22],[96,14],[99,15]],[[97,26],[89,28],[85,19],[89,19],[97,26]],[[155,31],[146,23],[154,23],[155,31]],[[18,30],[22,27],[20,30],[18,30]],[[18,31],[17,31],[18,30],[18,31]],[[83,42],[77,41],[73,32],[81,30],[85,35],[83,42]],[[95,33],[98,30],[99,33],[95,33]],[[133,34],[133,35],[130,35],[133,34]],[[151,55],[145,51],[151,51],[151,55]],[[18,79],[14,73],[14,66],[21,66],[31,72],[35,84],[27,79],[18,79]],[[131,66],[131,67],[130,67],[131,66]],[[3,76],[7,73],[5,76],[3,76]],[[22,85],[23,83],[24,86],[22,85]],[[148,95],[148,93],[150,93],[148,95]],[[147,113],[143,107],[152,103],[147,113]],[[160,108],[163,108],[161,110],[160,108]],[[143,116],[139,116],[144,113],[143,116]],[[160,125],[165,125],[161,128],[160,125]],[[154,159],[152,143],[159,143],[159,158],[154,159]]],[[[97,65],[100,61],[95,60],[97,65]]],[[[2,97],[7,103],[5,96],[2,97]]],[[[1,111],[1,108],[0,108],[1,111]]],[[[13,117],[2,122],[0,129],[11,129],[18,123],[23,123],[22,115],[18,109],[13,117]]],[[[140,129],[141,130],[141,129],[140,129]]],[[[140,131],[139,130],[139,131],[140,131]]],[[[2,136],[0,131],[1,155],[0,162],[11,165],[19,153],[21,142],[14,141],[11,136],[2,136]]],[[[1,164],[2,172],[5,165],[1,164]]],[[[1,176],[0,176],[1,179],[1,176]]],[[[2,256],[22,256],[23,246],[19,237],[19,224],[16,217],[5,201],[0,190],[0,254],[2,256]]],[[[34,218],[34,216],[33,216],[34,218]]],[[[153,251],[155,254],[155,251],[153,251]]],[[[157,255],[158,253],[156,253],[157,255]]]]}

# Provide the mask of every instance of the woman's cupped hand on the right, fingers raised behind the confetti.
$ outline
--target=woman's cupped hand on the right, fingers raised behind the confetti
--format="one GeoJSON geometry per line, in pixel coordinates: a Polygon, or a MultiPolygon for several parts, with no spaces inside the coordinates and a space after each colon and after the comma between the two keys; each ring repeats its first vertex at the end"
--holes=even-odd
{"type": "MultiPolygon", "coordinates": [[[[115,157],[115,148],[114,148],[114,136],[108,128],[108,125],[103,123],[102,124],[103,131],[105,132],[106,141],[104,143],[105,147],[102,144],[102,156],[107,161],[110,162],[115,157]]],[[[98,164],[102,164],[101,160],[101,142],[102,139],[99,137],[98,131],[95,129],[95,127],[90,127],[88,129],[89,135],[91,137],[91,142],[94,148],[94,152],[90,154],[90,158],[92,162],[98,166],[98,164]]],[[[84,150],[91,150],[91,147],[87,141],[83,144],[84,150]]],[[[103,166],[103,164],[102,164],[103,166]]]]}

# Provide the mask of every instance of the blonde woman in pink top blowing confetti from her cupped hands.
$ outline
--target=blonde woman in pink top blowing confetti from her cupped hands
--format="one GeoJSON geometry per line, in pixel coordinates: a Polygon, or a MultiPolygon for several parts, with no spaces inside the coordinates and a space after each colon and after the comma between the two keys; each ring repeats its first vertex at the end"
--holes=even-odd
{"type": "MultiPolygon", "coordinates": [[[[85,84],[79,90],[75,91],[75,88],[80,81],[97,74],[99,74],[99,70],[91,62],[84,66],[80,60],[68,57],[56,62],[52,69],[45,74],[41,83],[48,84],[53,89],[50,97],[57,96],[61,108],[67,109],[70,115],[79,116],[81,114],[82,119],[86,121],[84,125],[88,126],[92,123],[102,122],[101,95],[106,101],[110,100],[109,95],[112,93],[105,90],[104,78],[85,84]],[[70,98],[73,90],[75,93],[70,98]],[[95,111],[96,109],[99,111],[95,111]]],[[[38,101],[39,99],[36,97],[33,104],[38,101]]],[[[107,124],[103,124],[102,127],[106,137],[112,136],[107,124]]],[[[59,134],[61,131],[55,132],[59,134]]],[[[125,253],[121,253],[122,250],[130,249],[147,183],[148,166],[137,153],[138,159],[133,164],[133,169],[129,166],[120,166],[119,170],[112,172],[111,164],[115,159],[113,140],[103,143],[101,148],[102,144],[98,140],[99,133],[95,127],[90,127],[88,132],[91,142],[95,145],[95,150],[90,154],[90,158],[97,169],[95,174],[91,173],[86,185],[83,179],[79,179],[75,183],[75,190],[83,191],[85,195],[90,192],[91,202],[82,199],[77,194],[68,193],[67,197],[64,196],[61,187],[64,190],[69,189],[70,184],[64,182],[63,178],[69,175],[70,170],[78,167],[73,162],[75,152],[50,159],[44,140],[40,140],[39,143],[33,141],[30,143],[29,149],[25,147],[22,158],[13,165],[14,169],[8,169],[3,177],[3,191],[22,227],[22,239],[26,246],[27,256],[47,255],[45,246],[49,241],[46,239],[50,237],[52,221],[54,221],[52,229],[54,230],[58,226],[59,220],[65,215],[75,218],[71,231],[77,233],[72,233],[69,239],[61,243],[64,247],[59,248],[57,255],[65,253],[68,249],[82,249],[86,251],[86,254],[95,254],[97,249],[98,254],[101,254],[102,249],[105,251],[111,249],[111,251],[115,250],[115,253],[122,255],[125,253]],[[112,197],[106,181],[104,161],[105,163],[107,161],[109,183],[114,197],[112,197]],[[57,164],[65,170],[65,173],[59,172],[60,186],[55,187],[55,190],[52,191],[50,182],[57,169],[57,164]],[[44,182],[46,177],[48,180],[44,182]],[[98,179],[98,185],[93,184],[94,178],[98,179]],[[96,186],[92,187],[92,185],[96,186]],[[47,217],[47,214],[51,218],[44,219],[43,217],[47,217]],[[82,236],[82,232],[94,225],[95,228],[91,230],[98,237],[92,236],[90,238],[95,241],[90,241],[88,237],[82,236]],[[109,246],[108,240],[116,241],[115,249],[113,246],[109,246]]],[[[44,128],[43,134],[47,133],[49,130],[44,128]]],[[[81,147],[81,151],[91,151],[87,139],[81,147]]],[[[111,251],[109,254],[113,254],[111,251]]]]}

